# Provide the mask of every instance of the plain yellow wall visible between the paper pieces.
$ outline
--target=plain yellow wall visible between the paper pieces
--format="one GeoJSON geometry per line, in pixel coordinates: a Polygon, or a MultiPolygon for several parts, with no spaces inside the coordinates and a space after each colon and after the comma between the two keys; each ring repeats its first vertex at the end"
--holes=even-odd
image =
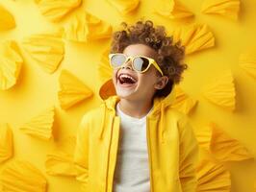
{"type": "MultiPolygon", "coordinates": [[[[180,84],[190,97],[198,101],[189,115],[192,126],[195,132],[199,132],[209,122],[215,122],[255,157],[256,79],[240,67],[239,58],[243,53],[251,53],[256,59],[256,1],[241,1],[238,20],[202,13],[203,0],[181,2],[193,12],[192,19],[173,21],[154,13],[155,7],[162,4],[162,1],[141,0],[136,11],[122,15],[104,0],[85,0],[80,7],[69,12],[60,22],[51,22],[39,12],[37,4],[32,0],[0,0],[0,4],[12,12],[16,23],[16,27],[12,30],[0,32],[0,43],[7,39],[15,40],[24,60],[17,84],[10,89],[0,91],[0,123],[8,123],[12,129],[14,149],[13,157],[0,163],[0,171],[10,162],[22,159],[31,162],[45,176],[48,183],[47,191],[80,191],[79,183],[74,178],[48,175],[45,160],[64,138],[75,135],[82,115],[100,104],[98,90],[101,82],[98,65],[103,52],[109,46],[110,38],[86,43],[64,39],[64,60],[52,74],[41,70],[37,62],[23,50],[21,42],[26,36],[60,28],[70,22],[76,14],[85,10],[110,23],[114,30],[119,28],[122,21],[134,23],[141,18],[151,19],[156,25],[164,25],[167,32],[178,26],[193,23],[207,24],[215,36],[215,46],[186,57],[185,61],[189,69],[184,73],[184,80],[180,84]],[[89,99],[66,110],[60,107],[58,100],[59,77],[63,69],[67,69],[87,84],[94,93],[89,99]],[[236,108],[233,111],[210,103],[202,94],[202,88],[226,70],[230,70],[234,78],[236,108]],[[19,130],[32,117],[51,106],[55,107],[54,138],[38,139],[19,130]]],[[[254,60],[254,68],[255,65],[256,60],[254,60]]],[[[224,162],[224,166],[230,172],[232,192],[256,190],[253,188],[256,180],[256,163],[253,158],[224,162]]]]}

